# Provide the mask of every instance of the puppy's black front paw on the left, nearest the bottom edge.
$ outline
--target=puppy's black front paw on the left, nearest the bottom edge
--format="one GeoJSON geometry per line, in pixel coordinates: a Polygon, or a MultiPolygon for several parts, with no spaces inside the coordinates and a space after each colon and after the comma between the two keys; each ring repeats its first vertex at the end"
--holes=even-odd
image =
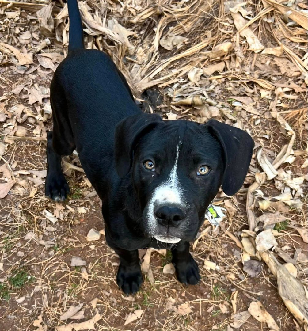
{"type": "Polygon", "coordinates": [[[140,265],[123,265],[120,263],[116,283],[125,294],[136,293],[143,283],[140,265]]]}

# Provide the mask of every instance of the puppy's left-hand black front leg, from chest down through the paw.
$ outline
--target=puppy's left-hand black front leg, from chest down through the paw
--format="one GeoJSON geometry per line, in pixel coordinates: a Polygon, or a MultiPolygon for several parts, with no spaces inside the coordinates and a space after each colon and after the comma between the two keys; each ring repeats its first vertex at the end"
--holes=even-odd
{"type": "Polygon", "coordinates": [[[127,295],[137,292],[143,283],[138,250],[127,251],[115,248],[114,251],[120,258],[120,265],[116,275],[116,282],[119,288],[127,295]]]}

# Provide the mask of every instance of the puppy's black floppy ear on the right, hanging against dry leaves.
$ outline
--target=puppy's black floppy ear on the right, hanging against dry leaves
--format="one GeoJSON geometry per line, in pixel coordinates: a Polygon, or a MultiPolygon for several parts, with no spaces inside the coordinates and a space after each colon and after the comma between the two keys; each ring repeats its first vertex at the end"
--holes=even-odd
{"type": "Polygon", "coordinates": [[[206,126],[215,136],[224,152],[222,189],[235,194],[243,185],[252,157],[254,142],[244,130],[210,119],[206,126]]]}

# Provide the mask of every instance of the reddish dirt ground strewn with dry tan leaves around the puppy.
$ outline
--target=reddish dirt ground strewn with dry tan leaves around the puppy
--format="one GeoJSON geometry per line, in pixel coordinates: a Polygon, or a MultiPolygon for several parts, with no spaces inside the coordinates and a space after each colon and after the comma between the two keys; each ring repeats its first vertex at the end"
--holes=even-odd
{"type": "Polygon", "coordinates": [[[0,330],[307,330],[305,1],[79,6],[86,46],[112,57],[140,107],[243,128],[255,141],[253,160],[243,188],[214,200],[219,226],[205,219],[192,243],[200,283],[183,286],[170,253],[148,250],[140,252],[141,291],[125,297],[101,202],[77,155],[63,161],[67,201],[44,196],[49,85],[66,56],[66,6],[1,0],[0,330]],[[99,240],[87,241],[90,229],[99,240]],[[302,315],[286,296],[299,298],[302,315]]]}

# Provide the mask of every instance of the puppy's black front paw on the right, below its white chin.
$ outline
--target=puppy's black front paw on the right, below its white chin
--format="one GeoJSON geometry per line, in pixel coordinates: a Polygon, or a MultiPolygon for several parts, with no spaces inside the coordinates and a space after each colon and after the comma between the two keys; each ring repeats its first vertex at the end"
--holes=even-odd
{"type": "Polygon", "coordinates": [[[200,280],[199,267],[191,255],[188,260],[174,261],[178,281],[184,284],[196,285],[200,280]]]}

